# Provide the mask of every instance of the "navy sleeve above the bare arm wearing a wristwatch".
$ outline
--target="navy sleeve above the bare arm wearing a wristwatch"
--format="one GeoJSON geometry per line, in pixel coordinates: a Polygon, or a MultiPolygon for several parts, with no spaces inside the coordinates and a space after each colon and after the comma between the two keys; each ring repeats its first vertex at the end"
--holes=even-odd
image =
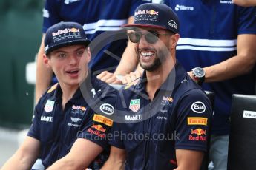
{"type": "Polygon", "coordinates": [[[256,7],[237,7],[238,34],[256,34],[256,7]]]}

